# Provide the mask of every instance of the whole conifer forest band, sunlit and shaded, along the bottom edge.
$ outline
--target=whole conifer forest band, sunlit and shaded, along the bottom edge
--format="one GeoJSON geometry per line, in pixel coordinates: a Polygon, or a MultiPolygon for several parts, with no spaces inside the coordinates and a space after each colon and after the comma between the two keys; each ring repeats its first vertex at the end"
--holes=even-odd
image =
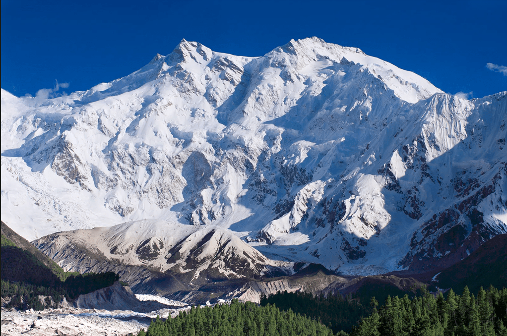
{"type": "Polygon", "coordinates": [[[481,287],[477,297],[467,287],[461,295],[450,289],[446,296],[421,288],[413,298],[388,295],[380,308],[375,297],[369,308],[359,301],[351,296],[278,292],[263,296],[261,305],[233,300],[231,305],[192,307],[165,321],[157,317],[137,336],[507,336],[505,288],[481,287]]]}

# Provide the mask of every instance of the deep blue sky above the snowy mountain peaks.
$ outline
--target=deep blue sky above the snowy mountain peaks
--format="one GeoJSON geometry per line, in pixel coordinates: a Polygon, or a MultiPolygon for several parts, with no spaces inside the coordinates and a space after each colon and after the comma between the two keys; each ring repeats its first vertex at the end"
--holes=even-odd
{"type": "Polygon", "coordinates": [[[2,88],[17,96],[54,89],[55,81],[69,93],[115,80],[183,38],[262,56],[310,36],[358,47],[448,93],[507,90],[505,0],[2,0],[1,22],[2,88]]]}

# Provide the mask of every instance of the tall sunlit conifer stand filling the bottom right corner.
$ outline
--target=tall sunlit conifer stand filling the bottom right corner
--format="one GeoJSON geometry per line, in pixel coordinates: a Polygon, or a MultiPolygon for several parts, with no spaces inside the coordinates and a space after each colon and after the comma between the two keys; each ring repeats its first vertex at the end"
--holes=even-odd
{"type": "Polygon", "coordinates": [[[353,336],[507,336],[507,289],[490,286],[480,288],[477,297],[468,287],[457,295],[452,289],[445,298],[428,291],[409,299],[387,297],[385,304],[377,309],[378,302],[372,298],[373,313],[361,321],[353,336]]]}

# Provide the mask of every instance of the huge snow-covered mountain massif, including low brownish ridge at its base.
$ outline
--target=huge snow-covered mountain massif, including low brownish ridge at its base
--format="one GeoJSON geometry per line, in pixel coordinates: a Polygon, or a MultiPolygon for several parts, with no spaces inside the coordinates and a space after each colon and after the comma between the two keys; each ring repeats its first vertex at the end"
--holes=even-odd
{"type": "Polygon", "coordinates": [[[183,40],[85,92],[2,90],[2,220],[107,227],[38,245],[192,278],[444,267],[507,233],[506,123],[507,92],[462,99],[356,48],[183,40]]]}

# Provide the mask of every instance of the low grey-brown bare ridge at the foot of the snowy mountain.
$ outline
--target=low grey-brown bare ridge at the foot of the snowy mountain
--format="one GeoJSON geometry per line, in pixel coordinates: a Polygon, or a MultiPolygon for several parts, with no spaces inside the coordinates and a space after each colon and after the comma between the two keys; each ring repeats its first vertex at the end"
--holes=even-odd
{"type": "Polygon", "coordinates": [[[35,243],[65,270],[116,272],[136,293],[185,291],[234,278],[260,279],[270,269],[290,266],[269,260],[230,230],[196,226],[178,230],[154,220],[61,232],[35,243]]]}

